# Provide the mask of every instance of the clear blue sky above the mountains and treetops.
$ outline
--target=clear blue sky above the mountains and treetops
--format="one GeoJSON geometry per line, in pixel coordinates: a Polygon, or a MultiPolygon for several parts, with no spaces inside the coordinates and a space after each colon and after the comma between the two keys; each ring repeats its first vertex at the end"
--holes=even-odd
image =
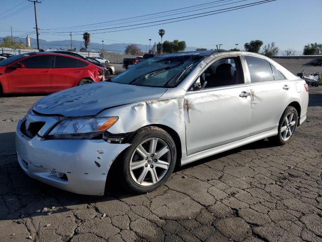
{"type": "MultiPolygon", "coordinates": [[[[44,31],[43,29],[118,20],[213,1],[214,0],[43,0],[42,4],[37,5],[38,27],[40,28],[41,33],[41,31],[44,31]]],[[[226,1],[225,3],[229,2],[229,0],[221,1],[226,1]]],[[[236,2],[238,0],[230,1],[236,2]]],[[[244,2],[235,5],[209,8],[201,12],[229,8],[231,6],[244,5],[258,1],[260,0],[245,0],[244,2]]],[[[11,26],[14,31],[14,36],[25,37],[24,32],[31,32],[34,30],[35,19],[32,3],[22,0],[1,0],[0,2],[0,36],[4,37],[10,35],[9,31],[11,26]],[[29,5],[31,7],[28,8],[29,5]],[[15,6],[18,7],[14,8],[15,6]],[[26,9],[23,9],[24,6],[26,6],[26,9]],[[22,11],[14,14],[15,11],[17,12],[19,9],[22,9],[22,11]]],[[[186,15],[189,14],[194,13],[190,12],[186,15]]],[[[287,48],[302,50],[303,46],[307,43],[322,42],[322,30],[320,25],[321,16],[322,0],[277,0],[264,5],[183,22],[121,32],[92,34],[91,37],[92,42],[99,43],[104,39],[105,44],[117,42],[148,44],[149,38],[152,39],[152,42],[160,41],[157,31],[158,29],[163,28],[166,30],[164,40],[185,40],[187,46],[205,47],[210,49],[214,48],[215,44],[223,44],[221,48],[230,49],[234,47],[235,43],[239,43],[239,47],[243,47],[245,42],[261,39],[264,41],[264,44],[274,41],[281,50],[287,48]]],[[[173,17],[177,16],[160,19],[173,17]]],[[[146,21],[155,20],[157,19],[146,21]]],[[[126,20],[125,22],[131,22],[131,19],[126,20]]],[[[135,23],[141,22],[126,23],[124,25],[135,23]]],[[[106,25],[107,24],[105,24],[103,28],[115,26],[106,25]]],[[[95,26],[90,26],[80,30],[83,31],[96,28],[97,27],[95,26]]],[[[98,29],[101,28],[102,27],[98,29]]],[[[70,29],[66,29],[63,31],[69,30],[70,29]]],[[[76,33],[73,34],[73,39],[82,40],[81,35],[76,36],[76,33]]],[[[31,35],[33,38],[35,38],[35,36],[35,34],[31,35]]],[[[50,41],[69,39],[69,36],[41,34],[40,38],[50,41]]]]}

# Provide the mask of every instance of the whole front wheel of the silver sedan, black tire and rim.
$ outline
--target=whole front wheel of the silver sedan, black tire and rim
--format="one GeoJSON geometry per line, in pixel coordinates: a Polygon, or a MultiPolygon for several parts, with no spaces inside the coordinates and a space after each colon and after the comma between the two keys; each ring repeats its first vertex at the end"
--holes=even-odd
{"type": "Polygon", "coordinates": [[[148,193],[163,185],[176,165],[177,150],[172,137],[163,129],[149,126],[139,129],[130,143],[120,166],[125,189],[148,193]]]}

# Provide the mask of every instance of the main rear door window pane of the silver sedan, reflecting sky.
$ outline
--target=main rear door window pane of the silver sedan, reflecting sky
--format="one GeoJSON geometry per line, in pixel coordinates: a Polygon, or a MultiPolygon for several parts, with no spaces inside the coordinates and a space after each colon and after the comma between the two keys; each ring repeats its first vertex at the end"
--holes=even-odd
{"type": "Polygon", "coordinates": [[[251,82],[274,81],[273,71],[269,62],[249,55],[246,55],[245,59],[250,71],[251,82]]]}

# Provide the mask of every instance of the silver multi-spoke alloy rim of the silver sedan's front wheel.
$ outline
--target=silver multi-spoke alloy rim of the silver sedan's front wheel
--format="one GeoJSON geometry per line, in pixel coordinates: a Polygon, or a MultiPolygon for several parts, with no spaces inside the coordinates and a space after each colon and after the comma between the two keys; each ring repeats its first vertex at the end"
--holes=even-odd
{"type": "Polygon", "coordinates": [[[152,186],[167,173],[171,162],[171,152],[165,141],[150,138],[139,144],[132,154],[130,173],[140,186],[152,186]]]}

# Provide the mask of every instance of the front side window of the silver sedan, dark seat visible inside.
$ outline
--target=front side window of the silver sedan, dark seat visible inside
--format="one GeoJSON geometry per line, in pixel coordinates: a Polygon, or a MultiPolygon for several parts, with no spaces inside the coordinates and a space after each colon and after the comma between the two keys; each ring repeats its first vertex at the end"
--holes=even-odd
{"type": "Polygon", "coordinates": [[[244,74],[239,57],[219,59],[200,76],[202,89],[237,84],[244,84],[244,74]]]}

